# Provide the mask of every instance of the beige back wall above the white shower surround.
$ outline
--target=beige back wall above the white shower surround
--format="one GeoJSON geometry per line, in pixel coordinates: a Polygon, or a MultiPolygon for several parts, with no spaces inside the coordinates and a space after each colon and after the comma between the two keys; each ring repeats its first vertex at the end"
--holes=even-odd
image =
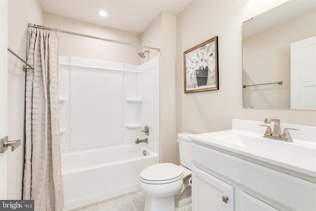
{"type": "MultiPolygon", "coordinates": [[[[50,28],[91,35],[99,38],[140,43],[140,35],[117,29],[107,28],[50,13],[43,13],[43,25],[50,28]]],[[[65,33],[59,35],[59,55],[75,56],[87,59],[114,61],[127,64],[139,64],[139,47],[106,42],[65,33]]]]}

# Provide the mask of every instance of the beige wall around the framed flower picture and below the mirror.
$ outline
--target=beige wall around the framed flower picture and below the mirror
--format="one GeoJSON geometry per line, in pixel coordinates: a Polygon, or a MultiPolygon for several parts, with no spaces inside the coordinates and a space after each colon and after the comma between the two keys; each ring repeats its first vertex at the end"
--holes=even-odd
{"type": "MultiPolygon", "coordinates": [[[[284,2],[284,0],[283,0],[284,2]]],[[[241,24],[282,1],[195,0],[177,16],[177,132],[230,129],[232,119],[316,126],[316,111],[242,108],[241,24]],[[183,52],[218,36],[219,90],[183,92],[183,52]]]]}

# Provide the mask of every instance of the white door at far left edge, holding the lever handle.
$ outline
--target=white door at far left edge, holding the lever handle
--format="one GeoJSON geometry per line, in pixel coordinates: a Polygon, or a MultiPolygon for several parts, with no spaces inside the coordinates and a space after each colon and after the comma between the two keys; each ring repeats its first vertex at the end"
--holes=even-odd
{"type": "MultiPolygon", "coordinates": [[[[0,138],[7,135],[7,0],[0,0],[0,138]]],[[[0,153],[0,199],[6,199],[7,152],[0,153]]]]}

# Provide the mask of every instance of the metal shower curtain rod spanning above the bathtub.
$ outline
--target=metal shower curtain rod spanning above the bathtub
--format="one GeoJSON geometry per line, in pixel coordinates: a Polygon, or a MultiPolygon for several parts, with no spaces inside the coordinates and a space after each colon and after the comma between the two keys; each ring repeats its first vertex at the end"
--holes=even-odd
{"type": "Polygon", "coordinates": [[[49,29],[49,30],[52,30],[52,31],[55,31],[55,32],[61,32],[61,33],[66,33],[66,34],[71,34],[71,35],[78,35],[78,36],[86,37],[86,38],[93,38],[93,39],[102,40],[102,41],[108,41],[108,42],[116,42],[116,43],[119,43],[119,44],[127,44],[127,45],[132,45],[132,46],[137,46],[137,47],[144,47],[144,48],[149,48],[149,49],[160,51],[160,48],[156,48],[156,47],[150,47],[150,46],[145,46],[145,45],[140,45],[140,44],[133,44],[133,43],[129,43],[129,42],[121,42],[121,41],[110,40],[110,39],[106,39],[106,38],[99,38],[99,37],[95,37],[95,36],[91,36],[91,35],[79,34],[79,33],[69,32],[69,31],[60,30],[60,29],[53,29],[53,28],[40,26],[40,25],[35,25],[35,24],[31,24],[31,23],[29,23],[28,26],[29,27],[34,27],[34,28],[40,28],[40,29],[49,29]]]}

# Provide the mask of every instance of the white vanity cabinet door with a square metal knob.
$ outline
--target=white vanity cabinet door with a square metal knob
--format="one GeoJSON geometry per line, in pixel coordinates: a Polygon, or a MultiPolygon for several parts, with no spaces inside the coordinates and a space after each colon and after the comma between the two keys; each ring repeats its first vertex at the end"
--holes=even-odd
{"type": "Polygon", "coordinates": [[[192,167],[193,211],[234,211],[234,187],[192,167]]]}

